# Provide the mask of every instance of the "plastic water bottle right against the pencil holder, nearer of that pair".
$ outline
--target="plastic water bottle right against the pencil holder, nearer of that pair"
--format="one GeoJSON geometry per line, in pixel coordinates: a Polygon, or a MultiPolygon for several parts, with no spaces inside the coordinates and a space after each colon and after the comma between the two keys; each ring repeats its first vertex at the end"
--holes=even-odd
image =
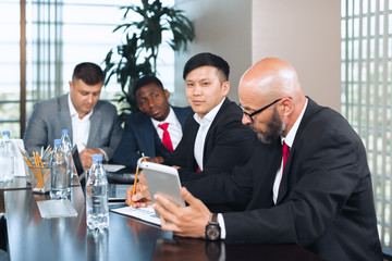
{"type": "Polygon", "coordinates": [[[66,159],[62,150],[61,139],[54,139],[54,148],[50,158],[50,198],[66,199],[70,175],[66,174],[66,159]]]}

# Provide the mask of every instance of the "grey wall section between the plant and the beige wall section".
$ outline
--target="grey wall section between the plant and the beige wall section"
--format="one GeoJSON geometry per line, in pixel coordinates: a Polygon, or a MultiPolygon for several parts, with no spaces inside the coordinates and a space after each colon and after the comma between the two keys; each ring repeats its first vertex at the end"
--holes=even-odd
{"type": "Polygon", "coordinates": [[[212,52],[228,61],[229,97],[237,101],[238,80],[252,65],[252,0],[177,0],[176,4],[194,22],[196,39],[186,53],[175,57],[175,94],[171,102],[187,104],[183,67],[199,52],[212,52]]]}

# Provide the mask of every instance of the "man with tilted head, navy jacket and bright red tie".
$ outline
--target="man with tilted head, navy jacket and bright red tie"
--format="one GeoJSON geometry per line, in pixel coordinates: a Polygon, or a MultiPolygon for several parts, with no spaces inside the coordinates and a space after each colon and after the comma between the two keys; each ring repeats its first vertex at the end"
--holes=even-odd
{"type": "Polygon", "coordinates": [[[138,79],[133,94],[140,111],[127,116],[124,136],[114,152],[113,162],[135,171],[142,153],[151,162],[162,163],[176,148],[192,109],[171,107],[168,101],[169,91],[152,75],[138,79]],[[167,130],[162,128],[164,124],[167,130]],[[170,137],[170,142],[164,139],[166,135],[170,137]]]}

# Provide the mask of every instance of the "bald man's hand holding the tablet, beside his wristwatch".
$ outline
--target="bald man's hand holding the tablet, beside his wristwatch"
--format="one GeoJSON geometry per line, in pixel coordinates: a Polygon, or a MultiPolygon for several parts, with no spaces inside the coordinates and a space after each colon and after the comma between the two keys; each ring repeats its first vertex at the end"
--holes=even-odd
{"type": "Polygon", "coordinates": [[[181,196],[189,204],[180,208],[162,195],[156,194],[154,208],[161,215],[162,231],[173,232],[183,237],[205,237],[205,229],[211,216],[208,208],[185,188],[181,188],[181,196]]]}

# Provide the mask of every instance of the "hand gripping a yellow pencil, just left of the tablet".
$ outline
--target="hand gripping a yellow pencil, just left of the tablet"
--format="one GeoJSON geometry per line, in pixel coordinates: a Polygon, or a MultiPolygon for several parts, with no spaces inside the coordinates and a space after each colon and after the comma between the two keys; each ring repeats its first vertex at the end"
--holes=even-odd
{"type": "Polygon", "coordinates": [[[151,198],[149,195],[146,176],[142,171],[139,173],[138,183],[136,184],[135,195],[132,197],[134,186],[126,189],[125,203],[134,208],[146,208],[151,204],[151,198]],[[133,201],[133,204],[131,204],[133,201]]]}

